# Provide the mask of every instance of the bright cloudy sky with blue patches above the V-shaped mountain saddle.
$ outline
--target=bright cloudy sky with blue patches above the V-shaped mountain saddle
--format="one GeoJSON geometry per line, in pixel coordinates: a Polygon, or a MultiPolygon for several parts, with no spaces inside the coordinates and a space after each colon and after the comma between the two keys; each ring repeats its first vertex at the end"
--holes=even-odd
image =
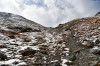
{"type": "Polygon", "coordinates": [[[0,11],[55,27],[75,18],[94,16],[100,11],[100,0],[0,0],[0,11]]]}

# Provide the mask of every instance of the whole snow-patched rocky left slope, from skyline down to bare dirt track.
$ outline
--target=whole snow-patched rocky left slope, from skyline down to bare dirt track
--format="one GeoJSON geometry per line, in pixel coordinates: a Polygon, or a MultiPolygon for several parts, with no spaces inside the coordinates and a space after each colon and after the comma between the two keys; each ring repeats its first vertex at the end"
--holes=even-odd
{"type": "Polygon", "coordinates": [[[21,16],[0,13],[0,66],[66,66],[69,49],[49,31],[21,16]]]}

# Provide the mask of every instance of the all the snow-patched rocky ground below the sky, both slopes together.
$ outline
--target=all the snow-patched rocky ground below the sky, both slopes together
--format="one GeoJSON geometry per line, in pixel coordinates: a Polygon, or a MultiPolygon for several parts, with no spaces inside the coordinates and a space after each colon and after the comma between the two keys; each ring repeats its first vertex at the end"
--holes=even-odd
{"type": "Polygon", "coordinates": [[[100,66],[100,17],[56,28],[0,12],[0,66],[100,66]]]}

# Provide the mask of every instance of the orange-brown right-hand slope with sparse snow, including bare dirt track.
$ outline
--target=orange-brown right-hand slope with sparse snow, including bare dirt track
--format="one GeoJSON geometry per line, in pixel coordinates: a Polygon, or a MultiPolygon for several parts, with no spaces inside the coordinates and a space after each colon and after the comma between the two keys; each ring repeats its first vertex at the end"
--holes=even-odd
{"type": "Polygon", "coordinates": [[[62,35],[67,34],[63,39],[71,55],[77,57],[74,66],[100,64],[100,17],[72,20],[59,25],[55,30],[62,35]]]}

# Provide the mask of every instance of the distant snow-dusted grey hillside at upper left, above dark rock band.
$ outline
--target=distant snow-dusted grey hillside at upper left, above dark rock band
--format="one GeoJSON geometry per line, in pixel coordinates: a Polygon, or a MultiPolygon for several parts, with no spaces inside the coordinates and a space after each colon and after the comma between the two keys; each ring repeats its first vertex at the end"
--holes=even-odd
{"type": "Polygon", "coordinates": [[[29,29],[29,31],[34,31],[45,28],[44,26],[28,20],[22,16],[5,12],[0,12],[0,27],[0,29],[3,30],[5,28],[6,30],[10,29],[16,32],[25,32],[25,29],[29,29]]]}

